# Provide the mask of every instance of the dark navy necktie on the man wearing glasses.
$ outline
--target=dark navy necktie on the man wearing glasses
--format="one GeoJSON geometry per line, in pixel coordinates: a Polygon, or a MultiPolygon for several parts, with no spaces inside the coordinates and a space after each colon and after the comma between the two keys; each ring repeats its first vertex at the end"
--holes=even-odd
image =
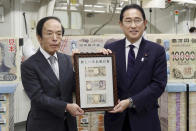
{"type": "Polygon", "coordinates": [[[135,52],[133,48],[135,47],[134,45],[129,45],[129,54],[128,54],[128,66],[127,66],[127,75],[128,78],[131,77],[131,71],[133,70],[133,66],[135,64],[135,52]]]}

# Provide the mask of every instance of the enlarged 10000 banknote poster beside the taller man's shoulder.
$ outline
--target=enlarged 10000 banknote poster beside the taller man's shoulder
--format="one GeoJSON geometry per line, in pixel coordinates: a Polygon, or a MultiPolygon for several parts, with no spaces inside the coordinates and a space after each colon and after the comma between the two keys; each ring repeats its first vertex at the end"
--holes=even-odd
{"type": "Polygon", "coordinates": [[[147,38],[165,48],[169,82],[195,82],[196,36],[149,34],[147,38]]]}

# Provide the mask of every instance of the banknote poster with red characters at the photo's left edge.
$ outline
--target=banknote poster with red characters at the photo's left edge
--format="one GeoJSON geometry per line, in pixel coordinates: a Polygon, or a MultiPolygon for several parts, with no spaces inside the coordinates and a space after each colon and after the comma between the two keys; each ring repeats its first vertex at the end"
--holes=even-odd
{"type": "Polygon", "coordinates": [[[14,82],[19,74],[19,40],[0,38],[0,83],[14,82]]]}

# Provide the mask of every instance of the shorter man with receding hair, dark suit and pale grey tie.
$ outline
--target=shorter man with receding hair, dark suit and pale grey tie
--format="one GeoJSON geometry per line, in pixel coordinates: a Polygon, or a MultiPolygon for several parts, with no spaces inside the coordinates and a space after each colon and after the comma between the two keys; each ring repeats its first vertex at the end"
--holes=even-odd
{"type": "Polygon", "coordinates": [[[40,49],[21,65],[22,83],[31,100],[27,131],[77,131],[75,116],[84,111],[72,103],[71,57],[57,52],[64,28],[58,18],[45,17],[36,33],[40,49]]]}

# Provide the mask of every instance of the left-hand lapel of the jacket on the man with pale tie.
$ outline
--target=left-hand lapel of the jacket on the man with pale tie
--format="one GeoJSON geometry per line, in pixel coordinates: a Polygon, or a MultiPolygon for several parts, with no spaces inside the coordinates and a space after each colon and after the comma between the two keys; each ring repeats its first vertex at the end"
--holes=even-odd
{"type": "Polygon", "coordinates": [[[53,72],[50,64],[48,63],[46,58],[43,56],[43,54],[40,52],[40,50],[38,50],[36,55],[37,55],[37,65],[39,66],[42,73],[48,76],[51,82],[53,82],[54,84],[58,84],[58,79],[55,73],[53,72]]]}

